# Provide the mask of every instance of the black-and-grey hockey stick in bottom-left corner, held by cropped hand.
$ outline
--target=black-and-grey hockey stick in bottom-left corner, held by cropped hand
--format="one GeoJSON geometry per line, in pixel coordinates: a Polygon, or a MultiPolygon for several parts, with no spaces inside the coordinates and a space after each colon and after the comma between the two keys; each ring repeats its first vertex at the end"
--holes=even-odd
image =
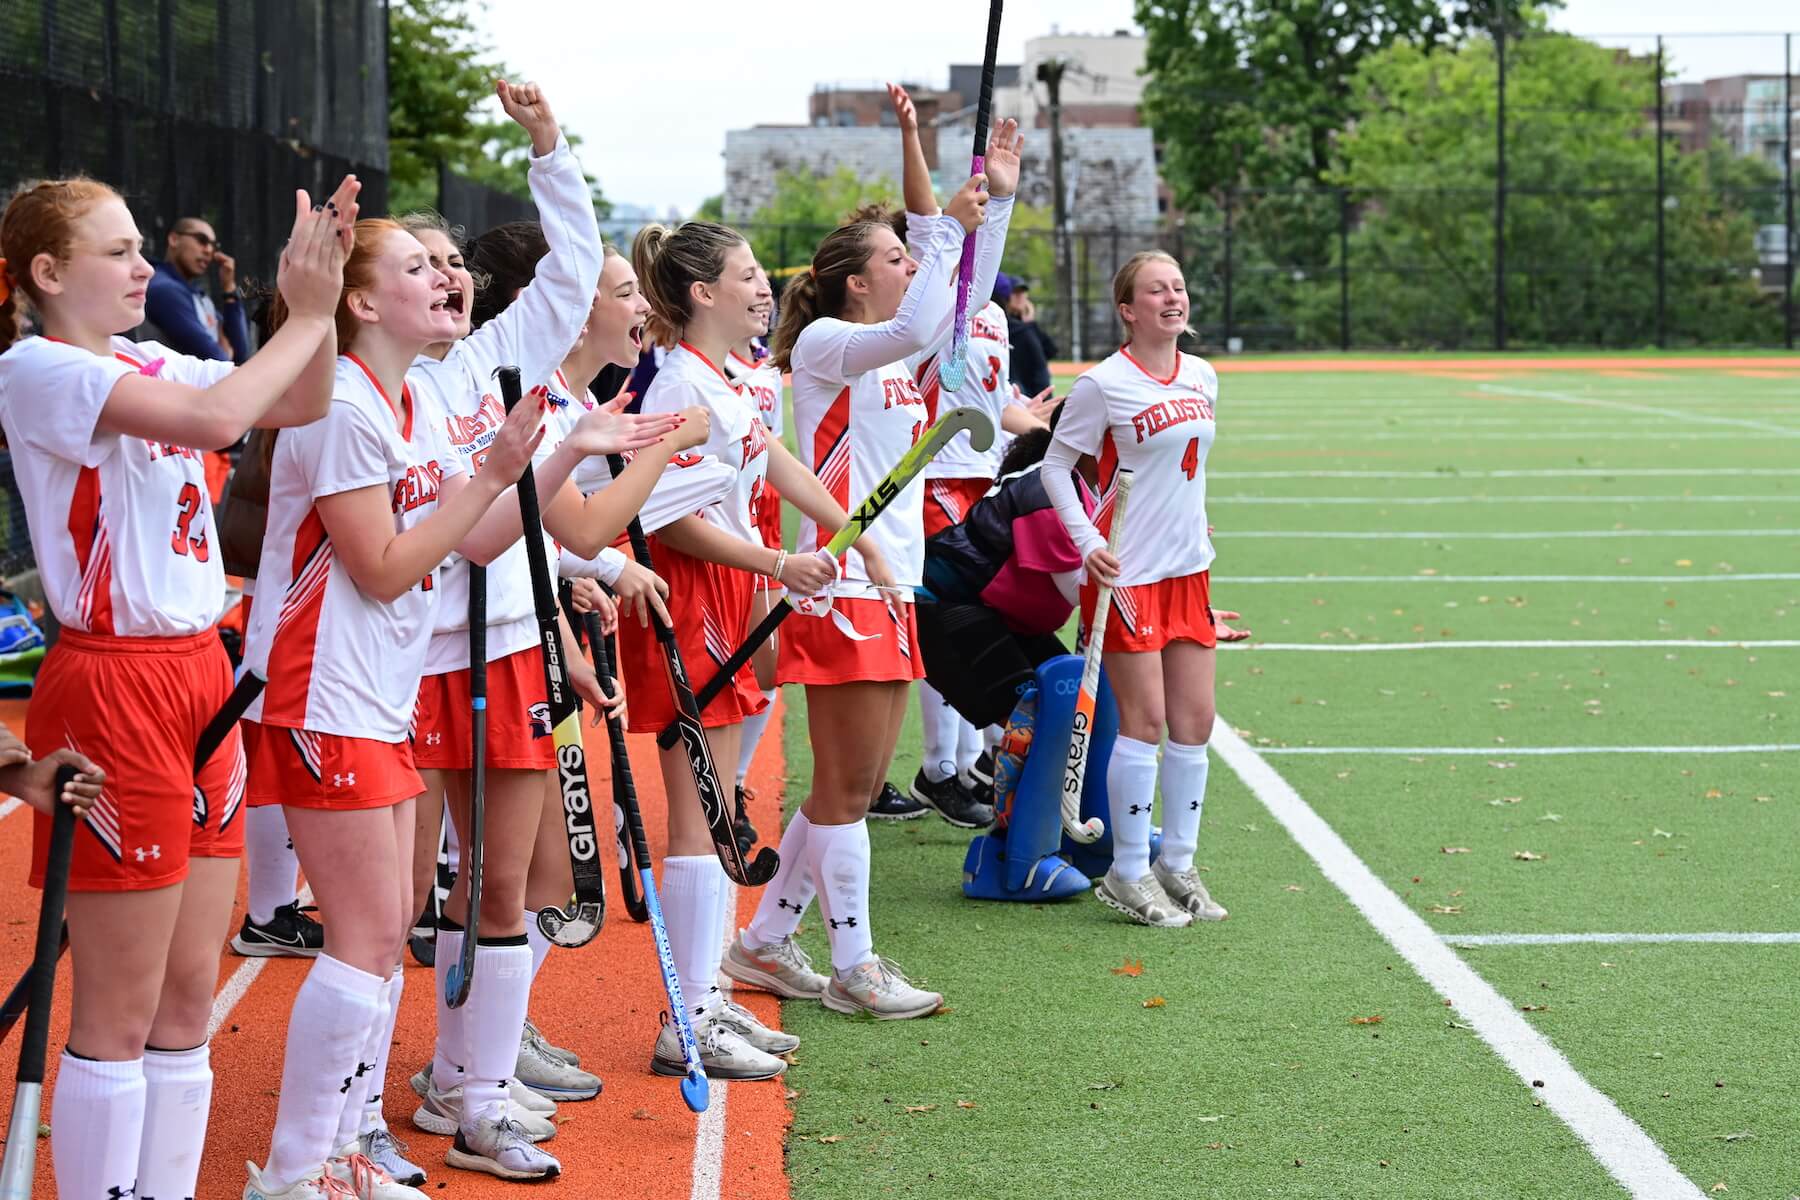
{"type": "Polygon", "coordinates": [[[63,954],[63,905],[68,900],[68,862],[76,849],[76,810],[63,802],[63,788],[76,768],[59,766],[50,786],[56,813],[50,817],[50,855],[43,867],[43,900],[38,905],[38,950],[31,957],[31,997],[25,1002],[25,1034],[18,1047],[18,1088],[13,1119],[0,1160],[0,1200],[29,1200],[38,1173],[38,1117],[43,1114],[43,1056],[50,1043],[50,1000],[56,995],[56,959],[63,954]]]}

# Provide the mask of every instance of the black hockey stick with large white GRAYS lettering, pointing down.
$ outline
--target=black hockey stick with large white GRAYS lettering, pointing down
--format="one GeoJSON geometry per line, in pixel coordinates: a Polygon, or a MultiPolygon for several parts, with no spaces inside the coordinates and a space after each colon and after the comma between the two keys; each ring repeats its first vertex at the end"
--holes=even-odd
{"type": "MultiPolygon", "coordinates": [[[[506,410],[522,396],[518,367],[500,367],[500,399],[506,410]]],[[[587,747],[581,743],[581,711],[569,685],[567,648],[556,622],[556,581],[544,551],[544,515],[538,511],[538,482],[531,464],[518,473],[518,518],[524,525],[526,560],[531,563],[531,599],[538,613],[538,640],[544,649],[544,685],[556,739],[556,783],[563,797],[563,831],[569,835],[569,867],[574,874],[574,900],[569,909],[538,909],[538,930],[558,946],[585,946],[607,919],[607,876],[599,871],[599,842],[594,833],[594,804],[587,790],[587,747]]]]}

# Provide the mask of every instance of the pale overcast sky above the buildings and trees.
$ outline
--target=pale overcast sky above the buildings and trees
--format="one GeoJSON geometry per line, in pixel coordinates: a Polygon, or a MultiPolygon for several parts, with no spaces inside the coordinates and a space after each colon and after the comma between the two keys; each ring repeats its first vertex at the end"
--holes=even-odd
{"type": "MultiPolygon", "coordinates": [[[[803,124],[815,83],[943,86],[949,63],[981,61],[985,16],[979,0],[860,7],[842,0],[493,0],[484,27],[500,58],[542,83],[556,115],[583,137],[581,160],[608,198],[688,212],[724,191],[725,130],[803,124]],[[889,18],[886,27],[882,18],[889,18]]],[[[1553,23],[1584,34],[1800,32],[1800,5],[1568,0],[1553,23]]],[[[1026,38],[1053,25],[1062,32],[1132,27],[1132,0],[1013,0],[1001,61],[1017,63],[1026,38]]],[[[1670,38],[1665,52],[1692,79],[1782,70],[1780,38],[1670,38]]]]}

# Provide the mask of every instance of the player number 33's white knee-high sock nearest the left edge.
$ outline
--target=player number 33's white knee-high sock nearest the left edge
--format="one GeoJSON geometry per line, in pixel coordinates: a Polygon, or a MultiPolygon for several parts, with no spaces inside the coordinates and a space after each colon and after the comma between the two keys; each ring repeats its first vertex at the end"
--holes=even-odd
{"type": "Polygon", "coordinates": [[[144,1060],[103,1063],[63,1051],[50,1097],[50,1155],[65,1196],[130,1196],[144,1135],[144,1060]]]}

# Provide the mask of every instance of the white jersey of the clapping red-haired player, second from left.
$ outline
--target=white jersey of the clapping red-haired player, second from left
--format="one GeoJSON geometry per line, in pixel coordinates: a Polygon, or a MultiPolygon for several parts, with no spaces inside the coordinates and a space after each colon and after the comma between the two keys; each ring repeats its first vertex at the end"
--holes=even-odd
{"type": "Polygon", "coordinates": [[[268,479],[268,533],[257,567],[245,662],[268,680],[248,716],[265,725],[401,741],[412,723],[437,572],[382,603],[337,563],[320,497],[385,489],[394,533],[437,511],[463,459],[443,432],[430,389],[405,385],[389,403],[353,354],[337,362],[331,410],[283,430],[268,479]],[[279,603],[277,603],[279,601],[279,603]]]}

